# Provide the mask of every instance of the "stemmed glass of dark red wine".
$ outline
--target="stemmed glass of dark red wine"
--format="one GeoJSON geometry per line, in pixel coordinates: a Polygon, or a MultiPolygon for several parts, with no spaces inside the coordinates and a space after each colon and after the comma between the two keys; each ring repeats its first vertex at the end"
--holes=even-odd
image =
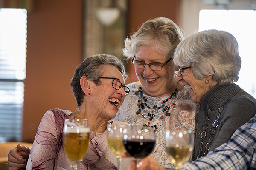
{"type": "Polygon", "coordinates": [[[139,170],[141,159],[153,151],[156,142],[154,129],[147,126],[128,126],[124,133],[125,150],[135,158],[136,167],[139,170]]]}

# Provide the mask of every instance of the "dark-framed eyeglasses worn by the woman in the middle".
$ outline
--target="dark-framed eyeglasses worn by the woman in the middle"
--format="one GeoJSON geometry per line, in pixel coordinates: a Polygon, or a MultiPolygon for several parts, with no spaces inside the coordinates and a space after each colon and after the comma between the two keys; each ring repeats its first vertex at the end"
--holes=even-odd
{"type": "MultiPolygon", "coordinates": [[[[135,58],[135,56],[134,56],[134,58],[135,58]]],[[[146,66],[146,63],[144,61],[135,60],[134,58],[132,59],[132,62],[135,67],[144,68],[146,66]]],[[[151,62],[147,65],[149,66],[149,68],[151,68],[151,70],[160,71],[160,70],[162,70],[163,66],[165,66],[169,61],[171,61],[171,59],[172,58],[168,59],[164,64],[160,63],[160,62],[151,62]]]]}

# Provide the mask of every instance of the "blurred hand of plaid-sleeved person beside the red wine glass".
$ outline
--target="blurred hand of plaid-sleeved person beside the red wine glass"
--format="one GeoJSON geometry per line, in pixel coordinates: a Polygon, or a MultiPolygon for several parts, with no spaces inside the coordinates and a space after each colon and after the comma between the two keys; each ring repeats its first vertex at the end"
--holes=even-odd
{"type": "MultiPolygon", "coordinates": [[[[123,153],[122,157],[130,157],[128,153],[123,153]]],[[[151,156],[147,156],[141,160],[141,167],[140,170],[166,170],[160,166],[151,156]]],[[[137,170],[136,162],[131,161],[129,164],[129,170],[137,170]]]]}

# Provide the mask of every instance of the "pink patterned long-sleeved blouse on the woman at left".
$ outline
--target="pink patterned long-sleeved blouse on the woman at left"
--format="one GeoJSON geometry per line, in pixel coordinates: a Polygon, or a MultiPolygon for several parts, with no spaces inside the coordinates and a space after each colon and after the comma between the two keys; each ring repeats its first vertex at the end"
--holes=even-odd
{"type": "MultiPolygon", "coordinates": [[[[67,158],[62,143],[64,121],[74,118],[71,111],[52,109],[41,119],[26,170],[69,170],[71,162],[67,158]]],[[[114,123],[114,122],[113,122],[114,123]]],[[[90,131],[90,144],[81,162],[81,170],[116,170],[116,156],[107,142],[107,132],[90,131]],[[95,140],[98,142],[96,146],[95,140]]],[[[128,160],[122,160],[127,167],[128,160]]]]}

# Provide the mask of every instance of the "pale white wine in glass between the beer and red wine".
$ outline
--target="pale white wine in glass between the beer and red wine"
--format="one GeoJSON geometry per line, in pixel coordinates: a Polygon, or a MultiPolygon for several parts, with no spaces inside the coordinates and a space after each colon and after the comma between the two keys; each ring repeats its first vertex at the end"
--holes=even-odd
{"type": "Polygon", "coordinates": [[[125,153],[125,146],[123,139],[108,138],[108,146],[110,150],[116,155],[116,158],[121,158],[121,154],[125,153]]]}

